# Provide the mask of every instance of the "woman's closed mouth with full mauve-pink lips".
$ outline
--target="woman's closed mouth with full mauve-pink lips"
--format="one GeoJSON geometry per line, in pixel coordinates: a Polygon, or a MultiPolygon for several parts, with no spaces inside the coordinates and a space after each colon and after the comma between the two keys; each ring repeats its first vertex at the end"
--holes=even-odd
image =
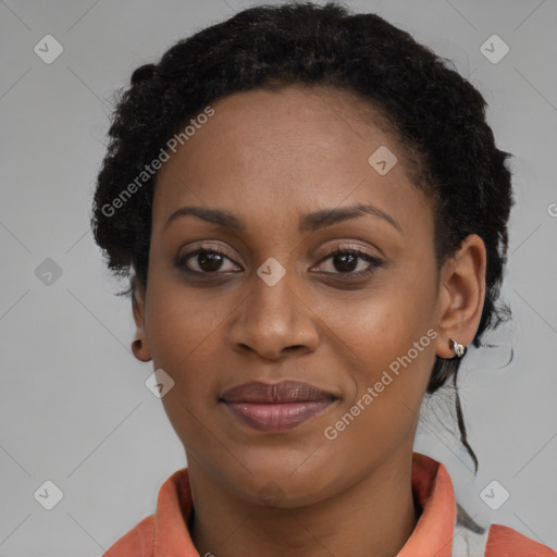
{"type": "Polygon", "coordinates": [[[284,431],[323,413],[339,398],[298,381],[252,382],[226,391],[220,398],[243,423],[265,432],[284,431]]]}

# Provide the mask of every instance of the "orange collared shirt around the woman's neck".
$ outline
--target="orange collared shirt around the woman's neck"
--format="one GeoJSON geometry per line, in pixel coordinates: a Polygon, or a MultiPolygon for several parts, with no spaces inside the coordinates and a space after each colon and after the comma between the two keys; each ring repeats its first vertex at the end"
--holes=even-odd
{"type": "MultiPolygon", "coordinates": [[[[412,454],[411,483],[421,515],[397,557],[557,557],[511,528],[467,524],[446,468],[431,457],[412,454]]],[[[161,486],[154,513],[102,557],[200,557],[187,527],[193,509],[189,472],[183,468],[161,486]]]]}

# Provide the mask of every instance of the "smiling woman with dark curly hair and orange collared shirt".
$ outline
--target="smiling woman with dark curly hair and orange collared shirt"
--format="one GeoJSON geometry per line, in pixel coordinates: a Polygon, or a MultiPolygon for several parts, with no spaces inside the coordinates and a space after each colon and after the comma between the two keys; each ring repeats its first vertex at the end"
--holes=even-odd
{"type": "Polygon", "coordinates": [[[106,555],[557,555],[412,451],[505,314],[510,154],[480,92],[334,3],[245,10],[131,85],[92,224],[188,467],[106,555]]]}

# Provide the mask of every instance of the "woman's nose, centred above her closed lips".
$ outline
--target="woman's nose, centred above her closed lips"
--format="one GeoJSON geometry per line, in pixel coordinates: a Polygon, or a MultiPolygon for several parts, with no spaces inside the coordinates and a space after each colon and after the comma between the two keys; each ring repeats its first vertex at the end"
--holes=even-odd
{"type": "Polygon", "coordinates": [[[230,341],[236,351],[278,360],[296,350],[307,354],[319,344],[318,318],[311,301],[294,288],[288,272],[273,286],[255,275],[249,294],[231,324],[230,341]],[[297,292],[295,292],[295,289],[297,292]]]}

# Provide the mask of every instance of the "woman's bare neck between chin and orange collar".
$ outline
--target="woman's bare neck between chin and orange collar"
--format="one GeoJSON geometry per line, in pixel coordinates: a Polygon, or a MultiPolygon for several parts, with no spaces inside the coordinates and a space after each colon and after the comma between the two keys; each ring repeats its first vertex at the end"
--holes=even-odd
{"type": "Polygon", "coordinates": [[[195,459],[188,468],[195,506],[190,535],[201,556],[392,557],[420,516],[411,490],[411,454],[410,459],[386,460],[334,497],[293,508],[231,494],[195,459]]]}

